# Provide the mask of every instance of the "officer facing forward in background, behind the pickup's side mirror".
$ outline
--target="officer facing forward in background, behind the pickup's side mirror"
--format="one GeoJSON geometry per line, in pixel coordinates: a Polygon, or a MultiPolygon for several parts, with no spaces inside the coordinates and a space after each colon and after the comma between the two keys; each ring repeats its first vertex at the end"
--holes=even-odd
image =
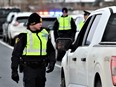
{"type": "MultiPolygon", "coordinates": [[[[71,38],[72,41],[75,38],[76,33],[76,24],[74,19],[68,15],[68,9],[62,8],[62,16],[58,17],[54,23],[54,36],[55,40],[57,38],[71,38]]],[[[61,61],[62,57],[64,56],[65,51],[59,52],[57,55],[57,60],[61,61]]]]}

